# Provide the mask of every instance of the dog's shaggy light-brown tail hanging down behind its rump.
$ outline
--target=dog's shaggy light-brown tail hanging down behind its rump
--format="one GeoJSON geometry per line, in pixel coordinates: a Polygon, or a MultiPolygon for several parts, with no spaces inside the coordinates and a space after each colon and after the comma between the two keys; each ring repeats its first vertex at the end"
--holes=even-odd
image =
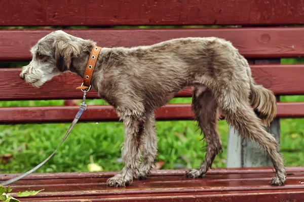
{"type": "Polygon", "coordinates": [[[261,85],[255,85],[250,67],[247,68],[250,79],[250,104],[261,119],[263,125],[269,126],[277,115],[277,100],[274,93],[261,85]]]}

